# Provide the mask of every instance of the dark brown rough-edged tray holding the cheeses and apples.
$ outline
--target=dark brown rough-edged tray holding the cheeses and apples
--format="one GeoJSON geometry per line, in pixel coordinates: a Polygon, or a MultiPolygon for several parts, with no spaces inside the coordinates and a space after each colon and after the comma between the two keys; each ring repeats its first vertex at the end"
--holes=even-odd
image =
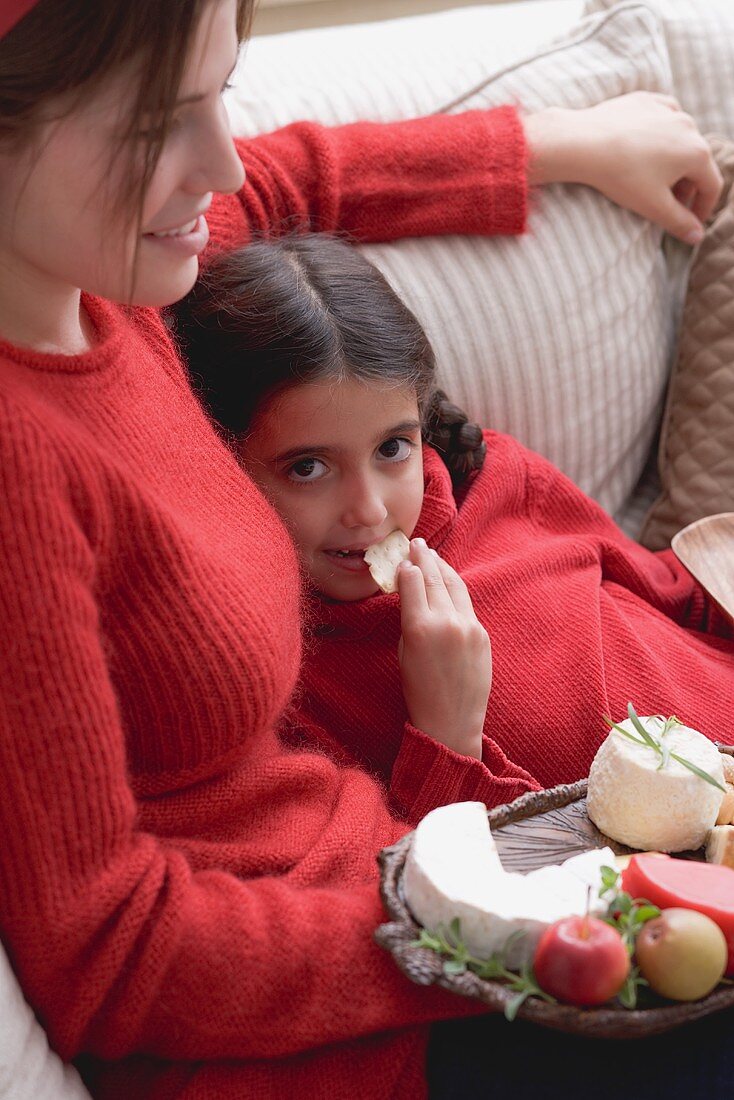
{"type": "MultiPolygon", "coordinates": [[[[722,752],[734,755],[733,746],[720,745],[719,748],[722,752]]],[[[508,805],[489,811],[504,868],[508,871],[530,871],[605,845],[617,855],[632,851],[610,840],[591,823],[585,812],[585,795],[587,781],[581,780],[548,791],[530,792],[508,805]]],[[[440,956],[428,948],[412,946],[419,925],[405,904],[402,892],[403,867],[412,840],[413,834],[408,833],[397,844],[380,853],[381,892],[391,921],[376,930],[375,939],[392,954],[412,981],[420,986],[440,986],[504,1011],[514,994],[502,982],[478,978],[470,971],[446,975],[440,956]]],[[[681,858],[702,859],[703,854],[684,853],[681,858]]],[[[664,1001],[654,994],[649,994],[649,1007],[638,1009],[623,1009],[614,1004],[578,1009],[530,998],[519,1009],[517,1019],[593,1038],[644,1038],[712,1012],[734,1008],[734,985],[722,983],[702,1000],[686,1004],[664,1001]]]]}

